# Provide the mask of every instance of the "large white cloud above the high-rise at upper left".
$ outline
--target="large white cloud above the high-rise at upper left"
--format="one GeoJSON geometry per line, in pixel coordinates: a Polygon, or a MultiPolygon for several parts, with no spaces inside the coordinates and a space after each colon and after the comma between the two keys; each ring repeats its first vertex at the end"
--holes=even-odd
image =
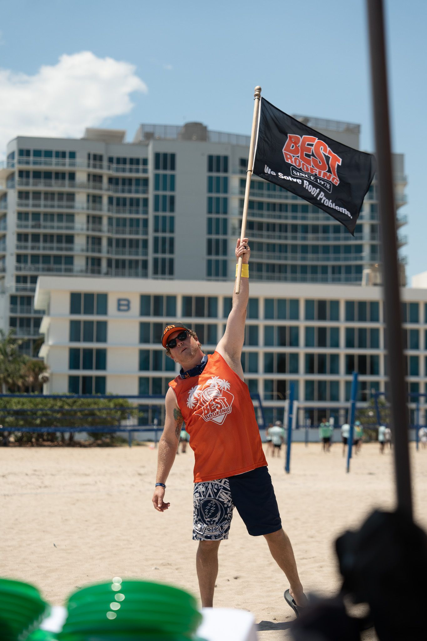
{"type": "Polygon", "coordinates": [[[135,67],[91,51],[60,56],[34,76],[0,69],[0,153],[15,136],[81,137],[85,127],[129,113],[147,92],[135,67]]]}

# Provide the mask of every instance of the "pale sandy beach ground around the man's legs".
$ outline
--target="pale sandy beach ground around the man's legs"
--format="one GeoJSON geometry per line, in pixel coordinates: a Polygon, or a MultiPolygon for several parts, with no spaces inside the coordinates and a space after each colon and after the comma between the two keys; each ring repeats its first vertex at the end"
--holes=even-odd
{"type": "MultiPolygon", "coordinates": [[[[411,445],[415,519],[427,528],[427,449],[411,445]]],[[[113,576],[173,583],[198,595],[192,531],[193,453],[176,457],[167,482],[170,510],[151,503],[157,452],[129,448],[0,448],[0,574],[35,583],[61,605],[71,592],[113,576]]],[[[268,458],[280,514],[305,590],[332,595],[340,578],[333,543],[375,507],[394,506],[391,451],[364,444],[346,474],[341,445],[294,444],[291,474],[268,458]]],[[[214,605],[254,614],[259,639],[289,638],[286,578],[263,537],[250,537],[235,511],[220,546],[214,605]]],[[[375,639],[373,632],[366,641],[375,639]]]]}

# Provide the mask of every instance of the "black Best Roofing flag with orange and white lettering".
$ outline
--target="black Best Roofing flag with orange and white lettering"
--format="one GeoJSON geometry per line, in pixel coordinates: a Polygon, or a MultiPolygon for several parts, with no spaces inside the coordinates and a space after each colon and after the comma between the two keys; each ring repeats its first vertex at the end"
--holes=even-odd
{"type": "Polygon", "coordinates": [[[375,158],[326,137],[261,98],[254,174],[319,207],[354,235],[375,158]]]}

